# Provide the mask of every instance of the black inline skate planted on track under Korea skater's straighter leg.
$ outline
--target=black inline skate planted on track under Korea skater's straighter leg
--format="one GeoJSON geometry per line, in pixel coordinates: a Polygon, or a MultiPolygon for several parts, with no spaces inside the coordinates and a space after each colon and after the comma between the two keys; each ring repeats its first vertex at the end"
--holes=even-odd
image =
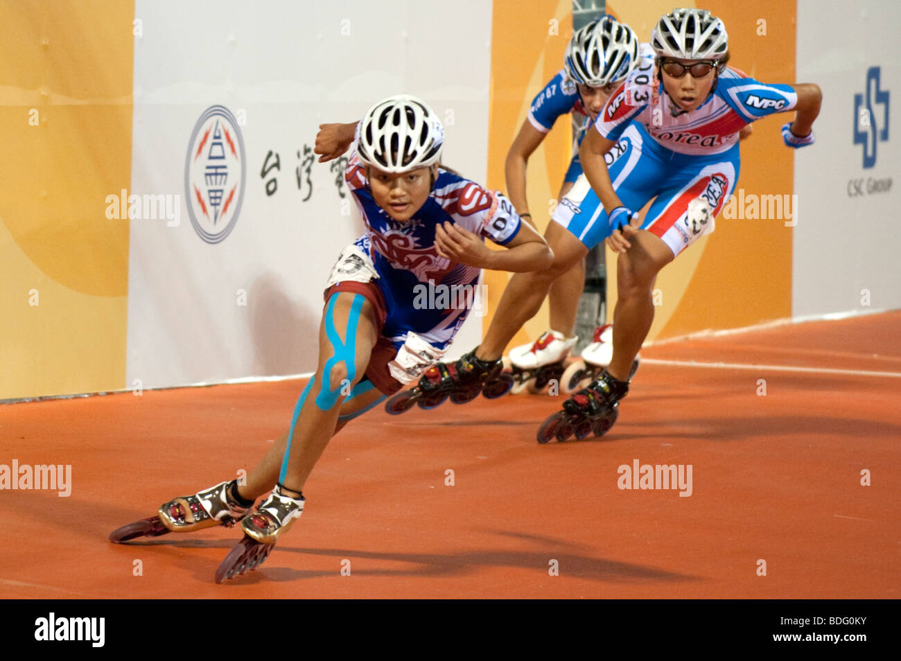
{"type": "Polygon", "coordinates": [[[619,381],[607,372],[563,403],[563,411],[554,413],[538,430],[538,442],[553,438],[560,441],[575,435],[584,439],[594,432],[604,436],[619,415],[619,402],[629,392],[629,382],[619,381]]]}

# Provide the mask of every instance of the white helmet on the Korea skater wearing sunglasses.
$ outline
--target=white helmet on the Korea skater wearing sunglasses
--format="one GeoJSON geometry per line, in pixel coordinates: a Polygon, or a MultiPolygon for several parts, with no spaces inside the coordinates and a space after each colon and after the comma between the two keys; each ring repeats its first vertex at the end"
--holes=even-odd
{"type": "Polygon", "coordinates": [[[674,9],[651,32],[651,47],[661,58],[721,59],[729,50],[729,36],[723,22],[706,9],[674,9]]]}

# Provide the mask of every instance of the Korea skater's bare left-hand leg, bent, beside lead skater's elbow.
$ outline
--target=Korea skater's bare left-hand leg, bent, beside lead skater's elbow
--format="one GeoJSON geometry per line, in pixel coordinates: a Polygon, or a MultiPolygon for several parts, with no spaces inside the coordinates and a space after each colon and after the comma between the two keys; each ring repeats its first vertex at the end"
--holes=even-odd
{"type": "MultiPolygon", "coordinates": [[[[582,242],[557,222],[551,221],[548,230],[544,232],[544,238],[554,251],[553,264],[541,272],[514,273],[497,306],[485,340],[476,351],[478,358],[483,360],[501,358],[516,331],[519,331],[523,323],[532,319],[542,307],[542,301],[554,280],[584,261],[587,255],[588,250],[582,242]]],[[[581,292],[582,285],[578,286],[581,292]]],[[[575,319],[570,323],[570,331],[574,322],[575,319]]]]}

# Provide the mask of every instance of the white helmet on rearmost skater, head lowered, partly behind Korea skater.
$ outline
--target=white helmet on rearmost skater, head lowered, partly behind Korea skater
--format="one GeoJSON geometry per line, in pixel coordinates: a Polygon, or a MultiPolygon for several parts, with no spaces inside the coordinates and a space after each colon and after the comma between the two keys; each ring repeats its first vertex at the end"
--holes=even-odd
{"type": "Polygon", "coordinates": [[[569,77],[582,85],[619,83],[638,64],[638,36],[613,16],[579,28],[564,57],[569,77]]]}

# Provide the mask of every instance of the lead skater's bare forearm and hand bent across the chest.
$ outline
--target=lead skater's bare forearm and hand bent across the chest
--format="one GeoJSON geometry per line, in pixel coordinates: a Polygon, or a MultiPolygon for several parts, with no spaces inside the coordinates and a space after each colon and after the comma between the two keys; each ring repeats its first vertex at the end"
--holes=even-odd
{"type": "Polygon", "coordinates": [[[506,250],[492,250],[478,234],[452,222],[435,227],[435,249],[438,254],[471,267],[496,271],[542,271],[554,261],[554,253],[547,241],[526,222],[520,224],[516,236],[505,247],[506,250]]]}

